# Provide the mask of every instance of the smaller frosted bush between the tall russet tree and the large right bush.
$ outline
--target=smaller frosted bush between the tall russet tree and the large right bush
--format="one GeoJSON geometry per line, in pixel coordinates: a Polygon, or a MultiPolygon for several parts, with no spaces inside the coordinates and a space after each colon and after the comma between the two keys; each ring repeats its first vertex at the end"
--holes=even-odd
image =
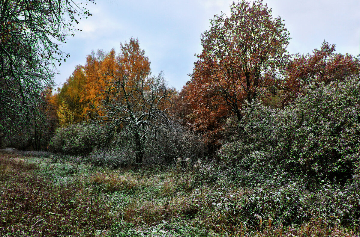
{"type": "Polygon", "coordinates": [[[222,145],[218,153],[233,182],[253,186],[265,182],[276,168],[272,153],[276,141],[271,137],[276,126],[275,117],[275,110],[260,103],[244,110],[243,123],[230,137],[233,141],[222,145]]]}

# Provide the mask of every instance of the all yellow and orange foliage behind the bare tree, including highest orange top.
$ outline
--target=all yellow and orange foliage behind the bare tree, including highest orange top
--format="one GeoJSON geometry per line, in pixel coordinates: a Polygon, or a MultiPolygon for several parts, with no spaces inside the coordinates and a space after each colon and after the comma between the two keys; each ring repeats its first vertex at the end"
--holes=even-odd
{"type": "Polygon", "coordinates": [[[80,123],[103,115],[96,108],[105,99],[99,96],[107,89],[105,82],[108,81],[109,76],[104,72],[119,76],[118,71],[121,70],[127,73],[127,83],[131,85],[139,78],[149,76],[150,61],[141,52],[137,52],[141,50],[138,44],[138,40],[131,38],[129,44],[121,44],[122,52],[117,56],[114,49],[109,52],[98,50],[96,54],[92,51],[87,55],[85,66],[76,66],[72,76],[66,80],[58,94],[60,123],[63,121],[62,118],[67,117],[64,114],[68,113],[67,110],[73,115],[71,123],[80,123]],[[143,62],[143,65],[135,65],[139,61],[143,62]],[[64,110],[63,102],[68,109],[64,110]]]}

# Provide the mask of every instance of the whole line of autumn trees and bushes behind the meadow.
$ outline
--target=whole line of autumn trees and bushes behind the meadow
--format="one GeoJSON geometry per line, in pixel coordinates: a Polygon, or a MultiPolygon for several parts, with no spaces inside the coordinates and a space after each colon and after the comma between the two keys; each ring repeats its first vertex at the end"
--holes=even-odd
{"type": "Polygon", "coordinates": [[[267,5],[230,7],[202,34],[203,50],[181,91],[162,73],[153,76],[130,38],[119,53],[93,51],[61,88],[39,92],[47,119],[34,114],[3,146],[93,155],[93,163],[94,151],[116,153],[116,167],[211,158],[235,173],[253,170],[257,179],[274,169],[350,178],[359,162],[359,58],[326,41],[289,55],[289,32],[267,5]]]}

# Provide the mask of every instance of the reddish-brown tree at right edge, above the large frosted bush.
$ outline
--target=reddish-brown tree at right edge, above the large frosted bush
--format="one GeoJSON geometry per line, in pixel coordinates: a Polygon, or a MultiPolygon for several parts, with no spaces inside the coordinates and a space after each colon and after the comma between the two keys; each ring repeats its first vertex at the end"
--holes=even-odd
{"type": "Polygon", "coordinates": [[[335,53],[335,45],[324,40],[312,54],[293,55],[284,72],[284,102],[293,101],[302,88],[311,83],[343,81],[359,74],[359,59],[350,54],[335,53]]]}

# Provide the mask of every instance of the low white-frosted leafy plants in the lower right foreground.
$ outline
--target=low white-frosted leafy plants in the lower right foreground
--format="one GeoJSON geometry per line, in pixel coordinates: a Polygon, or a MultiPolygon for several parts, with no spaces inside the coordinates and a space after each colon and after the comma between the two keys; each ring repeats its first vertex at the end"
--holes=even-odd
{"type": "Polygon", "coordinates": [[[217,213],[215,220],[220,223],[246,222],[249,230],[300,226],[314,219],[330,227],[360,224],[360,189],[353,183],[341,186],[323,182],[310,191],[305,179],[274,172],[268,182],[253,188],[229,192],[228,185],[219,186],[212,194],[211,213],[217,213]]]}

